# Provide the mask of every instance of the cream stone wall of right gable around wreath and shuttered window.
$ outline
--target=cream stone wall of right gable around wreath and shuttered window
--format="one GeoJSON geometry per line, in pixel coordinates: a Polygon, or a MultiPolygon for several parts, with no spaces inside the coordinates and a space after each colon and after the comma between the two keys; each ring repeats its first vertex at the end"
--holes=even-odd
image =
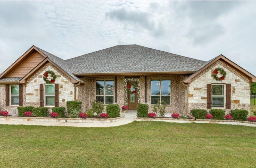
{"type": "MultiPolygon", "coordinates": [[[[231,109],[239,108],[250,111],[249,79],[220,60],[192,79],[189,84],[189,111],[193,108],[206,109],[207,84],[231,84],[231,109]],[[219,67],[227,73],[222,82],[212,77],[212,71],[219,67]]],[[[226,110],[227,113],[229,111],[229,109],[226,110]]]]}

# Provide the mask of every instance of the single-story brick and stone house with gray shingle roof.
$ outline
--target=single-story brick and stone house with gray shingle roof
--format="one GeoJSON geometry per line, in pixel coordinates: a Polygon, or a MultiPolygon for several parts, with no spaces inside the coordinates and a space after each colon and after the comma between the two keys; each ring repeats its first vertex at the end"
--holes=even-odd
{"type": "Polygon", "coordinates": [[[0,75],[0,110],[13,113],[17,106],[52,108],[79,100],[86,111],[97,100],[130,110],[147,103],[150,111],[164,101],[168,112],[183,115],[193,108],[250,111],[252,82],[254,75],[223,55],[205,62],[118,45],[63,60],[32,46],[0,75]]]}

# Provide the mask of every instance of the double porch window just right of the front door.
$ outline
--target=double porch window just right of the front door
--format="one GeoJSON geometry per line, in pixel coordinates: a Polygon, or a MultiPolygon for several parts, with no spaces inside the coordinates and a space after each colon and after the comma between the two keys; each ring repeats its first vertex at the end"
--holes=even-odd
{"type": "Polygon", "coordinates": [[[171,104],[171,81],[151,80],[151,104],[164,101],[171,104]]]}

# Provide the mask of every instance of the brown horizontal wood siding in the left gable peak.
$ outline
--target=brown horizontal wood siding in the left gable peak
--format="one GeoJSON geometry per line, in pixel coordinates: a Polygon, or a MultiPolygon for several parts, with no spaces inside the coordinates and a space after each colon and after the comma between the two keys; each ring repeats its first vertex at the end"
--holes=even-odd
{"type": "Polygon", "coordinates": [[[35,52],[7,77],[24,77],[44,59],[44,56],[42,56],[38,52],[35,52]]]}

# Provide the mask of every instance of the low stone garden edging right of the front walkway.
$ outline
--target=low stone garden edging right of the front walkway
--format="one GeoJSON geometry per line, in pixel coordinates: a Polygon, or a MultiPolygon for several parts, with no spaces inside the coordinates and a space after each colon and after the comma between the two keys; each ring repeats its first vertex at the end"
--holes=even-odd
{"type": "Polygon", "coordinates": [[[237,121],[237,120],[215,120],[215,119],[190,119],[190,118],[142,118],[135,117],[135,121],[165,121],[177,123],[209,123],[209,124],[228,124],[228,125],[244,125],[256,127],[256,122],[237,121]]]}

